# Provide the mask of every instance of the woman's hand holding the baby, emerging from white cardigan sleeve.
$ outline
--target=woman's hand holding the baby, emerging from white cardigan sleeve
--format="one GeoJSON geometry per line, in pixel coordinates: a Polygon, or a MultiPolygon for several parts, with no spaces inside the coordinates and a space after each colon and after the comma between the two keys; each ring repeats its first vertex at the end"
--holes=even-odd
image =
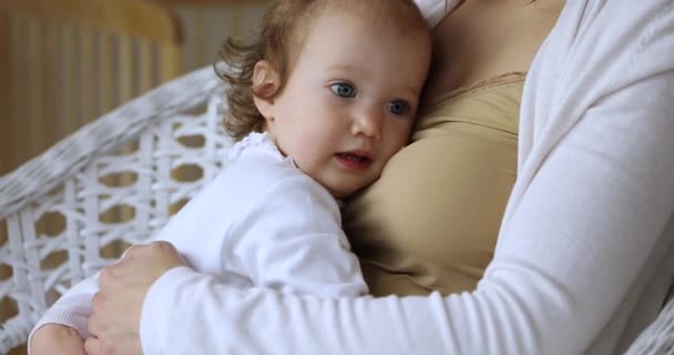
{"type": "Polygon", "coordinates": [[[181,265],[185,263],[171,243],[153,242],[133,246],[120,262],[104,267],[92,301],[86,353],[142,354],[140,325],[145,295],[160,276],[181,265]]]}

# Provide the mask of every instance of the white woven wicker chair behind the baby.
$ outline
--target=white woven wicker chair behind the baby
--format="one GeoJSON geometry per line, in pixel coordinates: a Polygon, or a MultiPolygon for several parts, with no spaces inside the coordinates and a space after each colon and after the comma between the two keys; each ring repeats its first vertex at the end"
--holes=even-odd
{"type": "MultiPolygon", "coordinates": [[[[105,245],[143,242],[166,222],[172,206],[222,168],[222,151],[233,142],[221,129],[223,89],[212,68],[194,71],[0,178],[0,305],[16,308],[2,314],[0,353],[24,343],[55,297],[112,261],[101,254],[105,245]],[[193,136],[201,136],[198,144],[193,136]],[[133,152],[115,153],[130,141],[137,142],[133,152]],[[185,165],[201,168],[200,179],[175,179],[185,165]],[[121,173],[134,178],[105,183],[105,176],[121,173]],[[105,223],[101,215],[119,206],[133,212],[123,222],[105,223]],[[45,215],[60,221],[59,231],[41,231],[45,215]],[[57,266],[44,266],[50,257],[57,266]]],[[[674,354],[674,301],[629,353],[674,354]]]]}

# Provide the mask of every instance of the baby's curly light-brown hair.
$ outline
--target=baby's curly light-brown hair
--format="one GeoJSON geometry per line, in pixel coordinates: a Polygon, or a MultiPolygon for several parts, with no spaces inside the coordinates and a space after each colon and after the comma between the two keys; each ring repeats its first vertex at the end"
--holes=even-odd
{"type": "Polygon", "coordinates": [[[280,81],[278,95],[285,85],[297,48],[302,48],[310,20],[317,18],[318,11],[348,9],[349,11],[374,10],[374,18],[389,17],[397,26],[430,31],[412,0],[277,0],[265,12],[257,40],[243,43],[228,38],[219,50],[221,59],[227,68],[215,67],[217,75],[229,83],[227,91],[229,111],[224,125],[232,136],[243,139],[251,132],[262,132],[265,118],[259,113],[253,100],[256,94],[253,73],[255,64],[268,61],[277,71],[280,81]],[[299,45],[298,45],[299,44],[299,45]],[[294,50],[294,51],[293,51],[294,50]]]}

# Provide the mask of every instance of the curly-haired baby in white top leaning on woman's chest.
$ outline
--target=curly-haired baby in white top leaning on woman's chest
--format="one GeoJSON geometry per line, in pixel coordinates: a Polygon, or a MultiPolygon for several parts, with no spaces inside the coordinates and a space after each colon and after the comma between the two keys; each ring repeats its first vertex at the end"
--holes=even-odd
{"type": "MultiPolygon", "coordinates": [[[[255,43],[228,40],[222,51],[225,126],[241,141],[153,239],[233,287],[367,293],[338,199],[377,180],[407,143],[430,43],[411,0],[274,2],[255,43]]],[[[95,284],[79,283],[48,311],[33,355],[85,354],[95,284]]]]}

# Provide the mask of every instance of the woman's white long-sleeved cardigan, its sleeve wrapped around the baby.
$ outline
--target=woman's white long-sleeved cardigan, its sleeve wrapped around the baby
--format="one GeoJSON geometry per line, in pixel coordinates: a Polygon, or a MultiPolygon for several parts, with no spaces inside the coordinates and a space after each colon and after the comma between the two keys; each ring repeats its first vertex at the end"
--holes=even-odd
{"type": "Polygon", "coordinates": [[[619,353],[674,274],[673,53],[671,0],[566,2],[525,82],[518,180],[474,292],[321,300],[176,267],[147,293],[143,349],[619,353]]]}

